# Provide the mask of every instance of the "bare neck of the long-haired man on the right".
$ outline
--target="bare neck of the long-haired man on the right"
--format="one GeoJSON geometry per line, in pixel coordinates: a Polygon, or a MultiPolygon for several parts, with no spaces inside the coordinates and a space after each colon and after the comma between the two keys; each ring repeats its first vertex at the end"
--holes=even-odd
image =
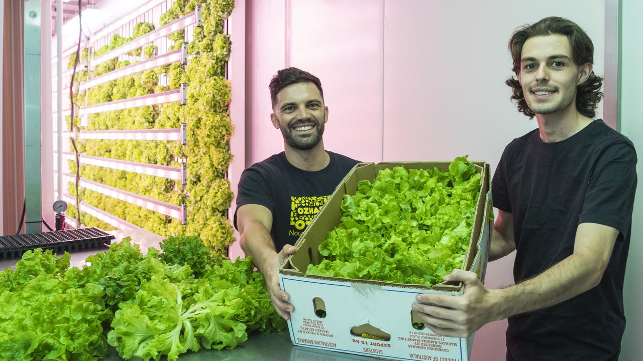
{"type": "Polygon", "coordinates": [[[536,114],[540,139],[543,142],[556,143],[564,141],[592,123],[592,119],[587,118],[576,110],[574,103],[570,107],[555,113],[536,114]]]}

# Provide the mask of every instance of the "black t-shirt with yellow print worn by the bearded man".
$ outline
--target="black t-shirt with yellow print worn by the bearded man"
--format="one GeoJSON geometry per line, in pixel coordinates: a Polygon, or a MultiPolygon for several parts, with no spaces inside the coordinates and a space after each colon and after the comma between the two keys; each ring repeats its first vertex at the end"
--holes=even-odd
{"type": "MultiPolygon", "coordinates": [[[[244,204],[270,209],[273,213],[271,235],[277,252],[286,244],[294,245],[341,180],[359,163],[341,154],[327,153],[330,163],[316,172],[293,166],[281,152],[253,164],[241,174],[237,209],[244,204]]],[[[237,227],[236,212],[234,222],[237,227]]]]}

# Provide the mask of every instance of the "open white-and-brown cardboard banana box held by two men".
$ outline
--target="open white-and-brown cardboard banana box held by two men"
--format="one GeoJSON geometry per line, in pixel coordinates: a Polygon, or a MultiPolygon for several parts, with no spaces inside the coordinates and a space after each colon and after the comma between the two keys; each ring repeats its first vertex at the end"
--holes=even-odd
{"type": "MultiPolygon", "coordinates": [[[[345,194],[354,195],[359,180],[373,180],[379,170],[438,168],[448,171],[450,162],[359,163],[342,180],[320,213],[295,244],[298,251],[280,269],[282,289],[295,310],[288,328],[294,345],[370,355],[392,360],[469,360],[473,335],[442,337],[415,319],[411,305],[420,293],[462,294],[462,283],[441,283],[432,288],[359,279],[306,276],[312,263],[320,263],[318,248],[328,231],[340,224],[340,204],[345,194]],[[413,322],[412,322],[413,319],[413,322]]],[[[491,241],[491,182],[489,164],[473,162],[482,173],[475,224],[463,269],[484,280],[491,241]]]]}

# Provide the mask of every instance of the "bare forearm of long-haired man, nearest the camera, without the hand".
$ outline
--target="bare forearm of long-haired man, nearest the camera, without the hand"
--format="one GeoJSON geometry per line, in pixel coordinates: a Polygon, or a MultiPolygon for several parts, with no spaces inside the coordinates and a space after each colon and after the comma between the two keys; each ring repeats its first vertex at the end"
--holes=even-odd
{"type": "Polygon", "coordinates": [[[596,286],[602,272],[588,267],[590,260],[572,254],[536,277],[500,290],[493,290],[494,319],[561,303],[596,286]]]}

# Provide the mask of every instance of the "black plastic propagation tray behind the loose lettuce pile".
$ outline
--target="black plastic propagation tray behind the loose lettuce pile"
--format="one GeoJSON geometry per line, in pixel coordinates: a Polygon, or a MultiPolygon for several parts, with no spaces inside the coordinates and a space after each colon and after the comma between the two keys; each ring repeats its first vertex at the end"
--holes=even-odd
{"type": "Polygon", "coordinates": [[[30,249],[51,249],[54,253],[95,249],[109,245],[115,237],[96,227],[65,231],[17,234],[0,237],[0,260],[19,258],[30,249]]]}

